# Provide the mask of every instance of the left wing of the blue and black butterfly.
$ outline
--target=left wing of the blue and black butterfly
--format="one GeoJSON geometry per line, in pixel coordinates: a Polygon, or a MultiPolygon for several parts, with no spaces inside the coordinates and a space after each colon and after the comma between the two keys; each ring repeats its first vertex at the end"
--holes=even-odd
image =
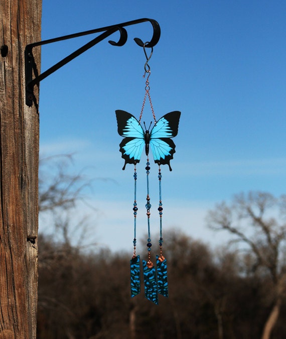
{"type": "Polygon", "coordinates": [[[125,110],[115,110],[118,134],[124,139],[119,144],[119,151],[126,164],[136,164],[140,161],[141,153],[145,145],[144,130],[138,120],[125,110]]]}

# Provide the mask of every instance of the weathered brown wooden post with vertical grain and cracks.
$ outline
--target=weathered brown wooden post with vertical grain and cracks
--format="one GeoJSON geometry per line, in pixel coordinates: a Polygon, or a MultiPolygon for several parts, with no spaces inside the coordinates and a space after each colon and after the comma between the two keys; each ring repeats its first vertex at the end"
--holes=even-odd
{"type": "Polygon", "coordinates": [[[41,40],[41,15],[42,0],[0,1],[1,339],[36,338],[39,92],[26,106],[24,50],[41,40]]]}

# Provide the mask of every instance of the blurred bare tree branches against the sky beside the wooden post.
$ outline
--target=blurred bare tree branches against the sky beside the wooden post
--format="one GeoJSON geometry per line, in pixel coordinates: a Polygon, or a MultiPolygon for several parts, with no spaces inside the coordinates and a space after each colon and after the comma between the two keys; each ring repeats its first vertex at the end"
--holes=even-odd
{"type": "MultiPolygon", "coordinates": [[[[39,167],[39,212],[50,214],[50,219],[56,234],[66,245],[71,244],[71,238],[82,239],[87,237],[88,215],[83,217],[74,225],[76,236],[72,232],[72,222],[75,219],[76,208],[79,202],[90,207],[94,212],[96,209],[88,203],[86,188],[92,188],[92,180],[87,178],[83,170],[75,173],[71,168],[73,155],[56,155],[40,159],[39,167]]],[[[54,237],[56,241],[56,237],[54,237]]],[[[87,245],[87,244],[85,244],[87,245]]],[[[90,244],[89,244],[90,245],[90,244]]],[[[94,245],[94,244],[93,244],[94,245]]]]}

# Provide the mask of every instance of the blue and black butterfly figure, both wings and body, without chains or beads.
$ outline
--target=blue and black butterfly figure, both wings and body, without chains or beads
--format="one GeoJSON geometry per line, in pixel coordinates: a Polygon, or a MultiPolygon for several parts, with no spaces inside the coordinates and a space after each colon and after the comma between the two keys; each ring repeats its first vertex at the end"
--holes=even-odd
{"type": "Polygon", "coordinates": [[[117,109],[115,111],[118,134],[124,139],[119,144],[119,151],[125,160],[123,170],[126,164],[136,164],[140,161],[142,150],[145,146],[146,155],[149,155],[151,147],[154,161],[159,165],[169,165],[173,159],[175,144],[171,138],[178,134],[178,126],[181,112],[173,111],[156,122],[151,131],[141,127],[139,122],[130,113],[117,109]]]}

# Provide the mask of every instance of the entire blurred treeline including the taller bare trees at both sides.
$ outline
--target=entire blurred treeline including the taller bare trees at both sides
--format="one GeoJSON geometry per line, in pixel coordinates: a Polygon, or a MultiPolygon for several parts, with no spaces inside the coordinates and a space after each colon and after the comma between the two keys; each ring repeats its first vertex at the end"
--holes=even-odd
{"type": "MultiPolygon", "coordinates": [[[[91,184],[70,174],[71,162],[65,155],[40,166],[39,210],[62,236],[38,241],[39,339],[286,338],[286,195],[249,192],[218,203],[207,225],[232,239],[218,250],[180,232],[164,234],[170,296],[157,306],[144,286],[130,298],[132,253],[71,245],[69,218],[91,184]]],[[[84,221],[79,241],[87,238],[84,221]]]]}

